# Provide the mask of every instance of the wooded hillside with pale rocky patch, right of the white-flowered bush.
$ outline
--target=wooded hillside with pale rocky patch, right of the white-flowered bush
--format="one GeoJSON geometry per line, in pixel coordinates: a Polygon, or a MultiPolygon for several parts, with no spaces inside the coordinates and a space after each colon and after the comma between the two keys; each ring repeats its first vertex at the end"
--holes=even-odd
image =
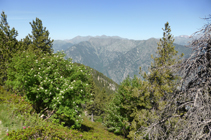
{"type": "MultiPolygon", "coordinates": [[[[78,66],[83,64],[74,63],[78,66]]],[[[85,66],[92,77],[89,79],[90,91],[91,94],[90,101],[86,103],[86,110],[88,117],[92,121],[103,121],[105,115],[105,108],[108,101],[111,99],[113,93],[118,89],[118,84],[104,76],[102,73],[85,66]]]]}

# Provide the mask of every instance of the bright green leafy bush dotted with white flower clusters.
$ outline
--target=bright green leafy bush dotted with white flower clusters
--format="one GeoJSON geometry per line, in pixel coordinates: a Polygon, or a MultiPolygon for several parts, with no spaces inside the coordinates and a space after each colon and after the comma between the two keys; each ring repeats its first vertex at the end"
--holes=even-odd
{"type": "Polygon", "coordinates": [[[40,53],[38,57],[30,51],[15,55],[8,65],[6,85],[24,91],[26,100],[37,112],[44,108],[55,110],[57,118],[69,118],[77,127],[82,121],[81,104],[90,97],[89,74],[83,66],[73,65],[64,56],[64,53],[40,53]]]}

